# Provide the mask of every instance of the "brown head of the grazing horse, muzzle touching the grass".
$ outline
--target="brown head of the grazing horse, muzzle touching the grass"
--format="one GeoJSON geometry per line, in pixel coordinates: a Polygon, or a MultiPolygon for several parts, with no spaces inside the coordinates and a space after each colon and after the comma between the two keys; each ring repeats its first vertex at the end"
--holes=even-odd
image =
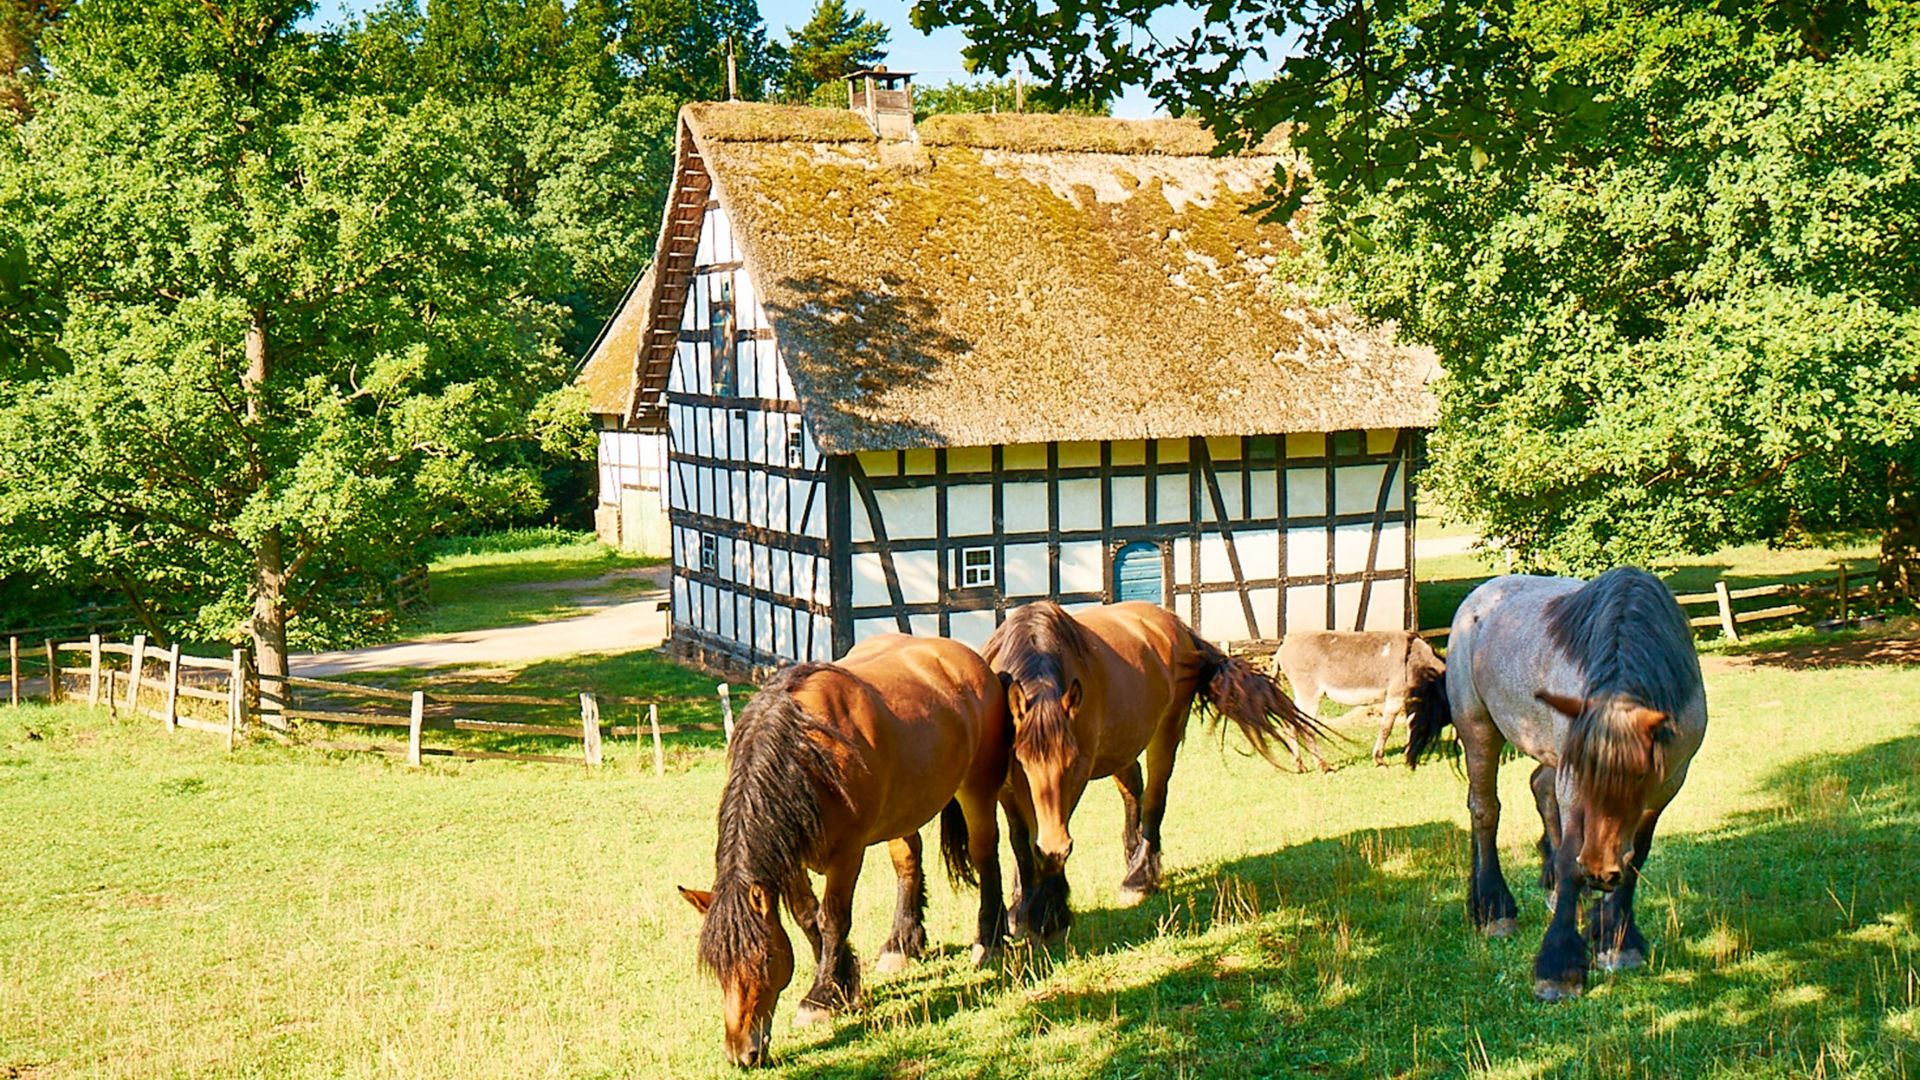
{"type": "Polygon", "coordinates": [[[780,896],[764,884],[722,882],[714,892],[680,888],[701,913],[701,965],[720,980],[726,1057],[741,1068],[770,1061],[774,1005],[793,982],[793,942],[780,922],[780,896]]]}

